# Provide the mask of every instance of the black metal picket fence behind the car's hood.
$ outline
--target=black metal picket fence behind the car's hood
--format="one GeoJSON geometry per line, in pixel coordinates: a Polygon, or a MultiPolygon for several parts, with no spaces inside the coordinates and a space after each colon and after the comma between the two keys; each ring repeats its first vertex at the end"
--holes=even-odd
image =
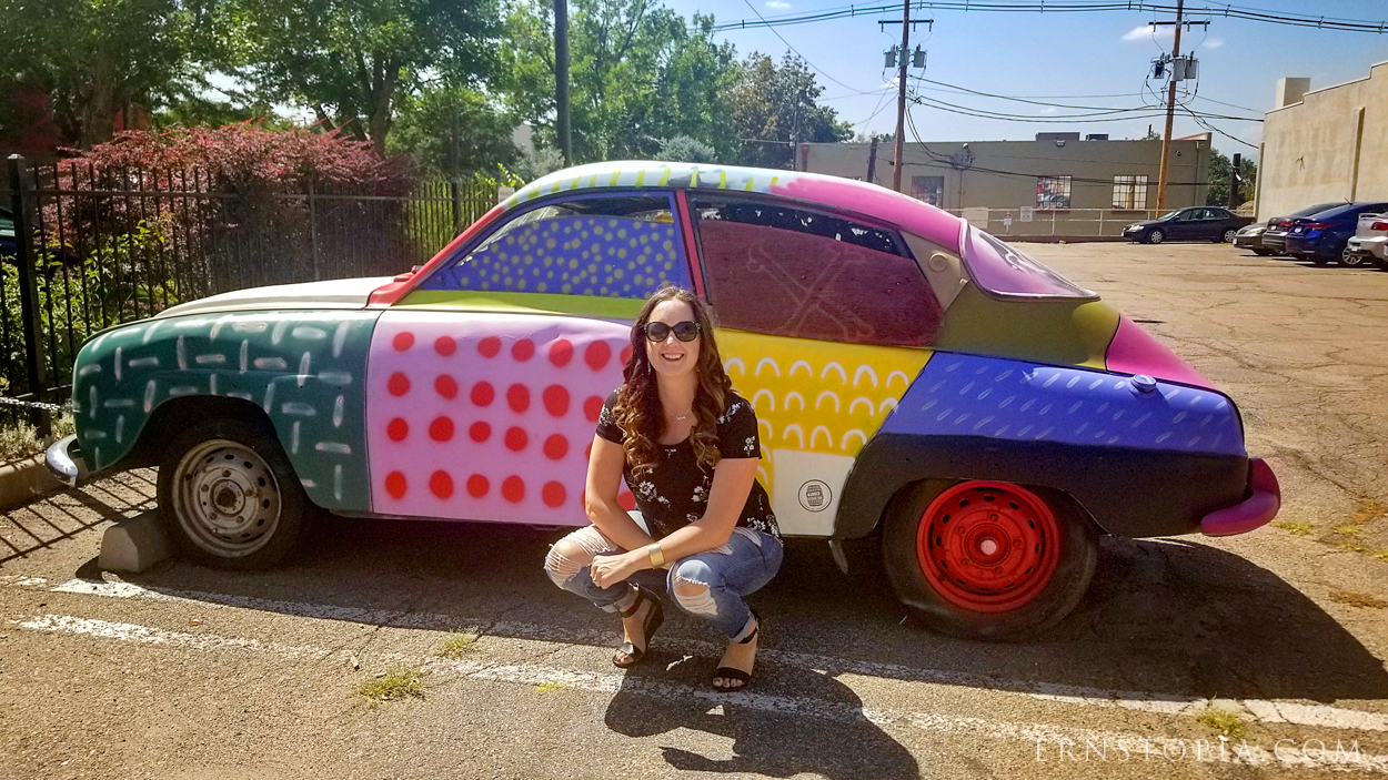
{"type": "MultiPolygon", "coordinates": [[[[315,186],[246,197],[201,171],[8,160],[0,235],[0,398],[65,402],[93,333],[205,296],[389,276],[426,262],[497,201],[483,180],[409,192],[315,186]]],[[[0,405],[0,423],[21,407],[0,405]]],[[[46,433],[47,414],[33,415],[46,433]]]]}

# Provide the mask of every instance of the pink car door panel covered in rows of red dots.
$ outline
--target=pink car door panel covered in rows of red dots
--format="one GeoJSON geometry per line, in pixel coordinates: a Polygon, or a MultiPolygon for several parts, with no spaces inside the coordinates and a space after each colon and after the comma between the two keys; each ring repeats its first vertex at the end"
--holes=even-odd
{"type": "Polygon", "coordinates": [[[383,314],[366,368],[372,509],[586,525],[589,446],[602,400],[622,383],[629,330],[539,315],[383,314]]]}

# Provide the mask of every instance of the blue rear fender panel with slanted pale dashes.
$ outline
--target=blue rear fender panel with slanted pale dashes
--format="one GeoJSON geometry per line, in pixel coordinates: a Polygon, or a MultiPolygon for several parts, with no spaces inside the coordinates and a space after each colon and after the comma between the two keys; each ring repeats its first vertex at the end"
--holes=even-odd
{"type": "Polygon", "coordinates": [[[1209,390],[1078,368],[937,353],[884,433],[1246,455],[1234,404],[1209,390]]]}

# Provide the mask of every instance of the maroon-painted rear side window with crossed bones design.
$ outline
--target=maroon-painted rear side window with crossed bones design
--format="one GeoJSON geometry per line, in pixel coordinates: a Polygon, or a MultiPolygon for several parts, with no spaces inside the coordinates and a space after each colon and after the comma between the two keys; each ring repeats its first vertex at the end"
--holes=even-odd
{"type": "Polygon", "coordinates": [[[765,200],[695,197],[708,296],[726,328],[922,347],[941,308],[890,230],[765,200]]]}

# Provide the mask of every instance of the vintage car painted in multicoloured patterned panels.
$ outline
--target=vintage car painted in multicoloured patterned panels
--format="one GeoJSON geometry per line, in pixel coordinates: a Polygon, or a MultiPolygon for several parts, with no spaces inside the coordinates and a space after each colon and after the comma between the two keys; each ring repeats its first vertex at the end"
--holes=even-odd
{"type": "Polygon", "coordinates": [[[157,464],[169,532],[225,568],[280,561],[311,505],[583,525],[594,421],[668,283],[716,308],[783,532],[845,569],[843,541],[880,534],[938,630],[1059,620],[1099,534],[1234,534],[1278,509],[1233,400],[1022,251],[873,185],[665,162],[544,176],[394,279],[107,330],[50,468],[157,464]]]}

